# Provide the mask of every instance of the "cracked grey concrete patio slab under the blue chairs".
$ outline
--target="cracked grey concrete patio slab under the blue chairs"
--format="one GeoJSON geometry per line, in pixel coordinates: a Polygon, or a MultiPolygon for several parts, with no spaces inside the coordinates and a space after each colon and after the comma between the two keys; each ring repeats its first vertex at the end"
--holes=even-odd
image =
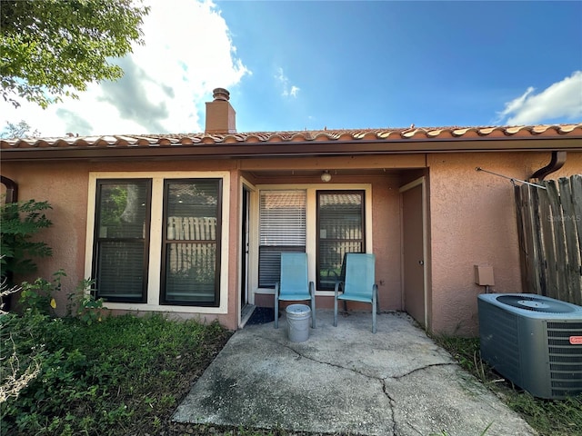
{"type": "Polygon", "coordinates": [[[534,435],[406,313],[317,311],[306,342],[285,314],[237,331],[196,381],[178,422],[359,435],[534,435]]]}

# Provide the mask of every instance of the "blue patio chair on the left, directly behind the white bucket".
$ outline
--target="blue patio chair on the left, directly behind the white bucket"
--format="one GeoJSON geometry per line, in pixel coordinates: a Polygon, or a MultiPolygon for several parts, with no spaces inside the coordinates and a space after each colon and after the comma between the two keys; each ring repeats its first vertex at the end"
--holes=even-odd
{"type": "Polygon", "coordinates": [[[275,283],[275,328],[279,328],[279,300],[311,300],[311,327],[316,328],[316,287],[307,278],[306,253],[281,253],[281,282],[275,283]]]}

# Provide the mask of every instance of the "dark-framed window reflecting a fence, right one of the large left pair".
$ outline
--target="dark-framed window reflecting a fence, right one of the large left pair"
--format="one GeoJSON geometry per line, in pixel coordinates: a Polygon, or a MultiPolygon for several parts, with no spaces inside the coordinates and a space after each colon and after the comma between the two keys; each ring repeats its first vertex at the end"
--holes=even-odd
{"type": "Polygon", "coordinates": [[[219,305],[221,183],[165,182],[162,304],[219,305]]]}

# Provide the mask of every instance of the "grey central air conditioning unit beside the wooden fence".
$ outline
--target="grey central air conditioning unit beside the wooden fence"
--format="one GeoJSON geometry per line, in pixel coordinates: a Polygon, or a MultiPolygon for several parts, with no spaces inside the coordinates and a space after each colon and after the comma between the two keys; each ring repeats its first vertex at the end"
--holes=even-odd
{"type": "Polygon", "coordinates": [[[481,358],[532,395],[582,393],[582,307],[533,293],[478,296],[481,358]]]}

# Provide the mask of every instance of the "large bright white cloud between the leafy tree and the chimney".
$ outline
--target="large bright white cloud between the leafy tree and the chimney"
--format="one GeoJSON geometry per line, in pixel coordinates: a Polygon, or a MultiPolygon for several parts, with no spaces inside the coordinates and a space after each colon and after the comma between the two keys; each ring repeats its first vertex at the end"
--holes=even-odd
{"type": "Polygon", "coordinates": [[[216,87],[251,74],[236,57],[225,19],[204,0],[149,0],[146,44],[118,60],[125,76],[90,84],[79,100],[40,109],[0,102],[0,128],[25,120],[43,136],[200,132],[199,114],[216,87]]]}

